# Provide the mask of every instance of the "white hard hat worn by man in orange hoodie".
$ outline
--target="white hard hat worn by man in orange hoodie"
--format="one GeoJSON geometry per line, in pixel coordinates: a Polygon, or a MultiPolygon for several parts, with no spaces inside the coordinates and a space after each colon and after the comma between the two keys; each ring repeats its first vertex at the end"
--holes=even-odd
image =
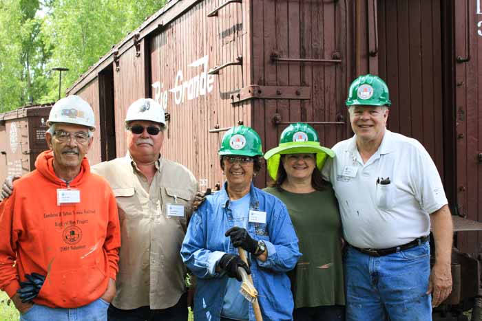
{"type": "Polygon", "coordinates": [[[92,107],[88,102],[75,95],[62,98],[54,104],[50,109],[47,126],[50,126],[52,122],[87,126],[91,131],[96,129],[92,107]]]}

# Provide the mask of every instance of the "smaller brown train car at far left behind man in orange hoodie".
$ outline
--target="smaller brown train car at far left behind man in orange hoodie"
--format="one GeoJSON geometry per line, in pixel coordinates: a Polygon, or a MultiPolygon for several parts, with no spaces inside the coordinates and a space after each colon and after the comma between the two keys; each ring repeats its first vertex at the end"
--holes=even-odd
{"type": "Polygon", "coordinates": [[[21,107],[0,113],[0,181],[35,169],[35,159],[48,149],[45,122],[52,104],[21,107]]]}

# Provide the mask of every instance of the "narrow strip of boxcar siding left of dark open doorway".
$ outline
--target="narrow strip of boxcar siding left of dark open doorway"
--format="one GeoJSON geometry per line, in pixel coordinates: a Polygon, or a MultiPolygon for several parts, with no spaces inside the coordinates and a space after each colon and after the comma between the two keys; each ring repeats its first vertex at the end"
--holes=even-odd
{"type": "Polygon", "coordinates": [[[89,159],[90,164],[97,164],[102,162],[101,157],[101,115],[99,113],[99,92],[98,92],[98,78],[94,78],[85,87],[83,87],[78,93],[83,100],[88,102],[94,111],[96,131],[94,132],[94,142],[90,151],[87,153],[87,159],[89,159]]]}

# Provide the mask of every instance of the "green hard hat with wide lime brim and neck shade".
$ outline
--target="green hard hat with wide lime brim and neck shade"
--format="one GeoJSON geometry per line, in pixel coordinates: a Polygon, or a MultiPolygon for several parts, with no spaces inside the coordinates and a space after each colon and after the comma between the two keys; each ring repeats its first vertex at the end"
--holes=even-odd
{"type": "Polygon", "coordinates": [[[330,148],[319,144],[315,129],[302,122],[286,127],[281,133],[280,145],[264,154],[264,158],[268,162],[269,176],[273,180],[276,180],[281,155],[286,154],[316,154],[316,166],[319,170],[322,170],[326,157],[335,157],[335,153],[330,148]]]}

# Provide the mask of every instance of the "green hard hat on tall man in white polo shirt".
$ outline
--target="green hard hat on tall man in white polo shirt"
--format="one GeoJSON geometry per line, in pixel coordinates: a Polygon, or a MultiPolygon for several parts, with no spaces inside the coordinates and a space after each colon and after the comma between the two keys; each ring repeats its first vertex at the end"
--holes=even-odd
{"type": "Polygon", "coordinates": [[[390,106],[392,102],[388,97],[388,86],[379,78],[370,74],[359,76],[348,89],[346,106],[365,104],[372,106],[390,106]]]}

